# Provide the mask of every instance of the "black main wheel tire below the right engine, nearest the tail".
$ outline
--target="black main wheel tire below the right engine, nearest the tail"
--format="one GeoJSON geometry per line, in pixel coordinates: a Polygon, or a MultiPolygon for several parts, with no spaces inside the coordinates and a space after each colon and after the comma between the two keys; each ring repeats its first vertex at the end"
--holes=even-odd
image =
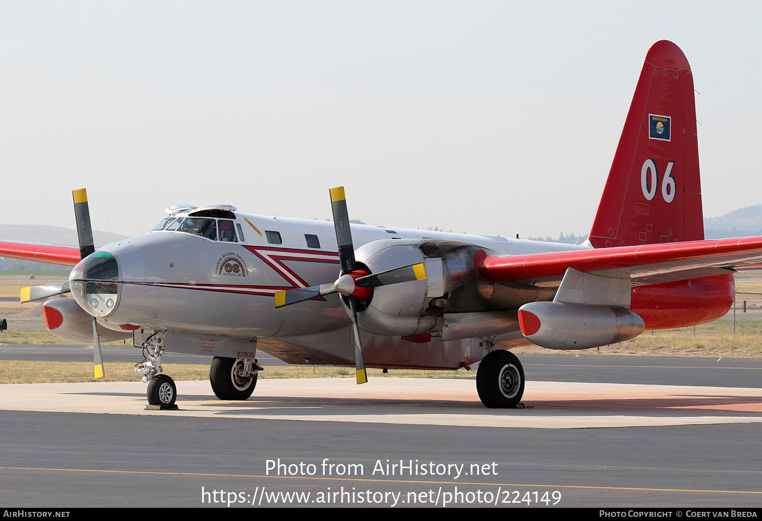
{"type": "Polygon", "coordinates": [[[511,351],[491,351],[476,371],[476,392],[491,409],[515,408],[521,402],[523,385],[523,367],[511,351]]]}

